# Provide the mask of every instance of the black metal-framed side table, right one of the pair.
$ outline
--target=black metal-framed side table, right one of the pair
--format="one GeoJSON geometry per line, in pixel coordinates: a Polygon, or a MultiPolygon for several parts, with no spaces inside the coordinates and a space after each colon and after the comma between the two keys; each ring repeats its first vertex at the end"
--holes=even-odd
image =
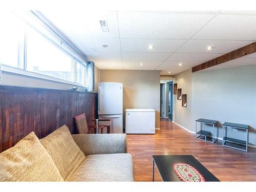
{"type": "Polygon", "coordinates": [[[222,145],[230,147],[230,148],[236,148],[237,150],[248,152],[248,128],[249,128],[249,125],[246,125],[246,124],[229,123],[229,122],[223,123],[223,126],[222,126],[222,133],[223,133],[222,145]],[[239,130],[246,131],[246,139],[245,140],[240,140],[240,139],[227,137],[227,127],[236,128],[236,129],[239,129],[239,130]]]}

